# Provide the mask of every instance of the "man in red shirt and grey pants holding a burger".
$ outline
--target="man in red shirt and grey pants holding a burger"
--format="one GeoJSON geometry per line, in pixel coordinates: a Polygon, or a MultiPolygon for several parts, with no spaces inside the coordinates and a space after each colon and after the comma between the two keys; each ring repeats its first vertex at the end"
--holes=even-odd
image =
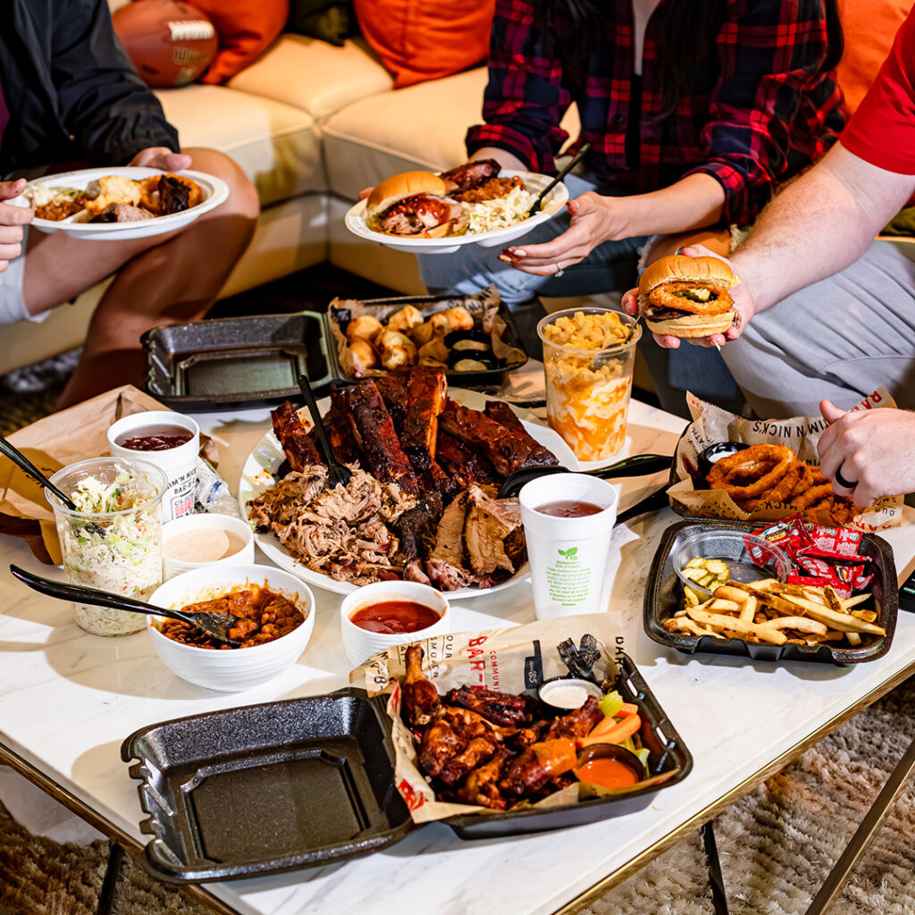
{"type": "MultiPolygon", "coordinates": [[[[910,244],[874,240],[913,195],[915,11],[839,142],[770,203],[731,258],[740,320],[690,340],[722,348],[759,416],[819,408],[829,425],[821,469],[857,505],[915,491],[915,262],[902,250],[910,244]],[[878,386],[902,409],[850,409],[878,386]]],[[[623,298],[632,314],[635,292],[623,298]]]]}

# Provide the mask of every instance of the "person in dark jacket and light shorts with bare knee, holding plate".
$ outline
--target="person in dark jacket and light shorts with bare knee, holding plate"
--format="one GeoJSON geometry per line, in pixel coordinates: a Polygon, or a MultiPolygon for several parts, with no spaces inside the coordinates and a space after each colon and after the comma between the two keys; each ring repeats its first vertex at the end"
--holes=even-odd
{"type": "Polygon", "coordinates": [[[140,335],[202,318],[251,241],[259,212],[251,181],[228,156],[181,149],[156,96],[114,35],[105,0],[12,0],[0,30],[0,323],[41,320],[117,271],[92,315],[68,406],[140,383],[140,335]],[[70,163],[63,166],[62,163],[70,163]],[[183,230],[84,242],[28,231],[23,178],[73,164],[193,166],[221,178],[229,198],[183,230]]]}

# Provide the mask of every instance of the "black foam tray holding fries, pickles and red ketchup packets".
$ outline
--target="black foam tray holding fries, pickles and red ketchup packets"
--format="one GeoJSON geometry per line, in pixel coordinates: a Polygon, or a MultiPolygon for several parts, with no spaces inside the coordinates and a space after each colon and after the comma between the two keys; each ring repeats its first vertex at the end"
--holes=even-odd
{"type": "Polygon", "coordinates": [[[684,654],[696,651],[706,654],[729,654],[752,658],[754,661],[813,661],[833,664],[854,664],[876,661],[889,651],[896,631],[896,617],[899,613],[899,589],[897,587],[896,563],[892,547],[873,533],[862,538],[863,553],[873,560],[876,574],[871,589],[880,603],[879,624],[887,634],[873,636],[862,633],[861,644],[851,648],[833,648],[822,645],[771,645],[765,642],[751,642],[742,639],[713,639],[711,636],[687,635],[685,632],[668,632],[662,626],[665,619],[680,609],[683,586],[673,570],[671,554],[676,544],[685,536],[703,531],[722,528],[751,533],[759,530],[760,522],[740,521],[682,521],[672,524],[663,534],[661,545],[651,563],[648,587],[645,589],[645,603],[642,624],[651,640],[684,654]]]}

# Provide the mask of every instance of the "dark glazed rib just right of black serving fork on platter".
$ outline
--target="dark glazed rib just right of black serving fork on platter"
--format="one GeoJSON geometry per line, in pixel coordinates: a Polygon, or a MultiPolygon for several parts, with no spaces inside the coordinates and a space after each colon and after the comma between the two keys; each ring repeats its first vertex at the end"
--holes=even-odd
{"type": "Polygon", "coordinates": [[[365,458],[363,468],[384,483],[396,483],[406,492],[418,492],[416,475],[375,382],[356,382],[343,388],[341,396],[356,443],[365,458]]]}

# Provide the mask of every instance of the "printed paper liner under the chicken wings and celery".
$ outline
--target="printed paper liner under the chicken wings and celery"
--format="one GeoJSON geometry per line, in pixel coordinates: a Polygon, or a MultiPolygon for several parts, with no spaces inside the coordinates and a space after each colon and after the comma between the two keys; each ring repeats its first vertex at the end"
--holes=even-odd
{"type": "MultiPolygon", "coordinates": [[[[551,677],[567,675],[576,663],[582,665],[581,673],[591,673],[611,688],[619,673],[614,659],[622,653],[631,655],[635,648],[626,644],[623,633],[623,615],[613,609],[538,619],[509,629],[453,632],[420,642],[425,652],[423,670],[439,695],[465,684],[518,694],[551,677]]],[[[350,683],[364,686],[370,695],[388,694],[396,755],[394,778],[414,823],[443,820],[458,813],[500,813],[475,804],[436,801],[435,792],[418,768],[413,736],[400,716],[405,651],[404,645],[398,645],[376,654],[350,673],[350,683]]],[[[578,798],[576,783],[524,806],[558,807],[578,798]]]]}

